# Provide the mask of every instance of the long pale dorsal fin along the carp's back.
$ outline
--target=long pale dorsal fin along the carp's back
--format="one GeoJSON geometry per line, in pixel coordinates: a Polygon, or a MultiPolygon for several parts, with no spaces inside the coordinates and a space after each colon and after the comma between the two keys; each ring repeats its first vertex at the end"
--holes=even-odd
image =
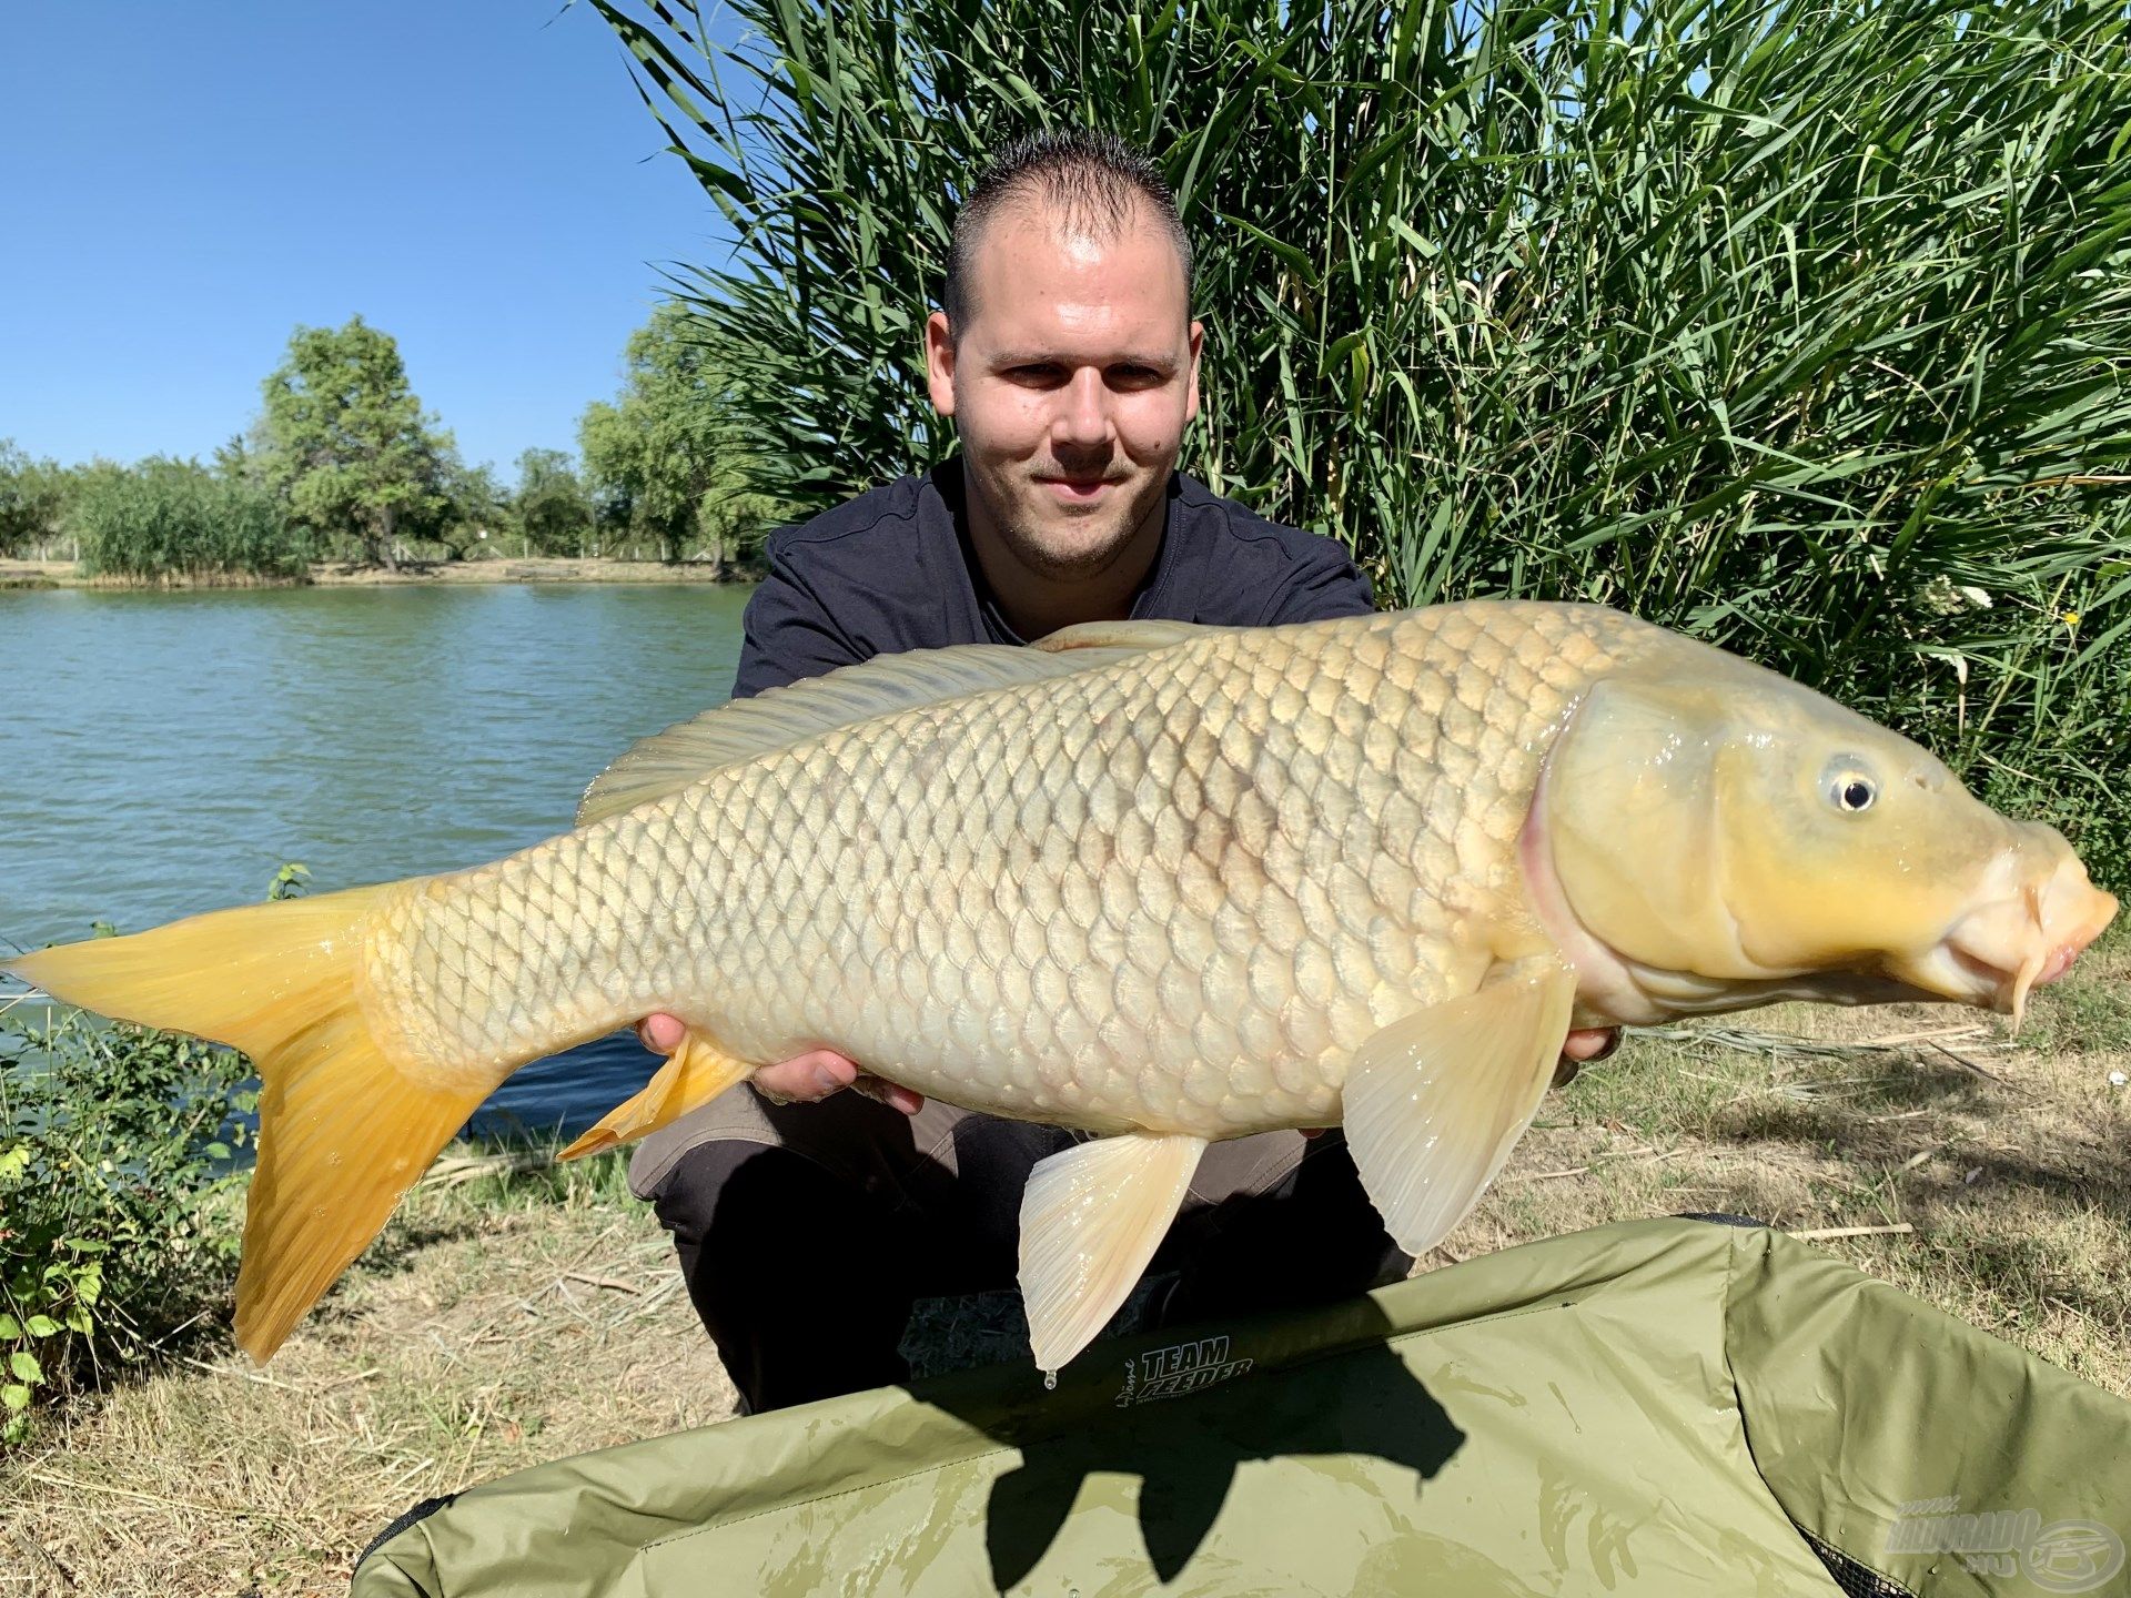
{"type": "Polygon", "coordinates": [[[782,688],[765,688],[752,699],[705,710],[639,739],[592,778],[592,786],[578,803],[578,825],[590,827],[595,820],[665,799],[712,771],[833,733],[837,727],[989,688],[1070,678],[1155,646],[1097,646],[1091,639],[1087,646],[1061,648],[1066,652],[1025,650],[1014,643],[957,643],[946,650],[878,654],[820,678],[803,678],[782,688]]]}

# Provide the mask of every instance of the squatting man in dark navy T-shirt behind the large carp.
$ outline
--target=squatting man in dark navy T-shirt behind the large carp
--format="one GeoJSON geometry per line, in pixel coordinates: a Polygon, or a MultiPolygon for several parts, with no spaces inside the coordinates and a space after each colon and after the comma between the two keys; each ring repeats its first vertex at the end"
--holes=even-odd
{"type": "MultiPolygon", "coordinates": [[[[1338,543],[1176,473],[1198,413],[1189,296],[1191,243],[1153,162],[1085,132],[1006,149],[955,219],[944,309],[927,326],[931,401],[955,418],[961,454],[771,539],[735,697],[1080,622],[1368,614],[1368,582],[1338,543]]],[[[669,1053],[684,1029],[652,1016],[639,1033],[669,1053]]],[[[1571,1033],[1564,1070],[1615,1038],[1571,1033]]],[[[908,1379],[897,1340],[912,1302],[1012,1287],[1029,1172],[1076,1134],[927,1104],[831,1050],[771,1065],[754,1087],[761,1097],[733,1091],[652,1134],[631,1163],[703,1325],[757,1411],[908,1379]],[[782,1108],[852,1087],[818,1110],[782,1108]],[[835,1246],[808,1257],[799,1238],[835,1246]]],[[[1345,1298],[1406,1272],[1338,1134],[1306,1138],[1206,1151],[1155,1261],[1161,1323],[1345,1298]]]]}

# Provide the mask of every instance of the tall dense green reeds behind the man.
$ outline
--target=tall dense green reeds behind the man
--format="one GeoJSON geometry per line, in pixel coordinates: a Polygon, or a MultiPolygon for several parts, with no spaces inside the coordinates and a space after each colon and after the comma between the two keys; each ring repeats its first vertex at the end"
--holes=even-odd
{"type": "Polygon", "coordinates": [[[1185,467],[1385,603],[1630,607],[1912,731],[2118,880],[2131,28],[2116,4],[597,0],[737,232],[763,492],[942,458],[985,153],[1151,147],[1202,247],[1185,467]]]}

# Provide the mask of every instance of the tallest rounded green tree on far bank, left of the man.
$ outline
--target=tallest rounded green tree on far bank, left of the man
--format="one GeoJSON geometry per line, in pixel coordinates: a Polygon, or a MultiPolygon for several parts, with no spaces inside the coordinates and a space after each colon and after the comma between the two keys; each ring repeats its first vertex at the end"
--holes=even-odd
{"type": "Polygon", "coordinates": [[[296,328],[264,394],[266,477],[300,522],[386,567],[401,537],[450,526],[456,450],[422,413],[392,335],[360,315],[296,328]]]}

